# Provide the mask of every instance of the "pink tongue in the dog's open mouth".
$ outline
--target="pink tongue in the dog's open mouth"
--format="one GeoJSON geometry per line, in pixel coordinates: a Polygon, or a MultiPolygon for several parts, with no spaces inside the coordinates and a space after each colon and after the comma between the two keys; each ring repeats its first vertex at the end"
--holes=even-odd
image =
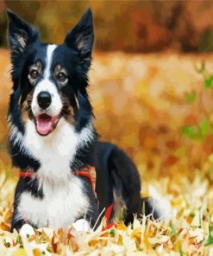
{"type": "Polygon", "coordinates": [[[36,128],[41,135],[47,135],[53,130],[52,118],[47,115],[41,115],[36,119],[36,128]]]}

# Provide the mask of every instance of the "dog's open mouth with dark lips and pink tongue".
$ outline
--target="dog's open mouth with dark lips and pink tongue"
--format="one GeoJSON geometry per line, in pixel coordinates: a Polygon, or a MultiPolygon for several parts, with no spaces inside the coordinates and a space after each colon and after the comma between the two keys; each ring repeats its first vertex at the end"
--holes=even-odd
{"type": "Polygon", "coordinates": [[[56,117],[48,116],[47,114],[41,114],[34,118],[34,124],[36,131],[41,136],[47,136],[51,131],[53,131],[60,120],[60,115],[56,117]]]}

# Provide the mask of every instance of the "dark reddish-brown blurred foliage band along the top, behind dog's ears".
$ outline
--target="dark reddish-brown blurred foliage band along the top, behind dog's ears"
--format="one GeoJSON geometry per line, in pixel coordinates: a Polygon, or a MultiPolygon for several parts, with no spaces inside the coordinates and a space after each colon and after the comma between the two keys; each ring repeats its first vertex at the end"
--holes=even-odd
{"type": "Polygon", "coordinates": [[[6,7],[39,27],[44,42],[63,42],[66,32],[91,7],[99,51],[213,50],[212,1],[4,0],[0,2],[0,46],[4,47],[6,7]]]}

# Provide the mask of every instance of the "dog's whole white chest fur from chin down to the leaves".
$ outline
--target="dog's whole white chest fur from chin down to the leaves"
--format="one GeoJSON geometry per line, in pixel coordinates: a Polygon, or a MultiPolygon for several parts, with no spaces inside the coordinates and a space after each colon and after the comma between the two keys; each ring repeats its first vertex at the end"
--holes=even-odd
{"type": "Polygon", "coordinates": [[[44,138],[28,120],[22,144],[41,163],[37,177],[44,197],[41,200],[28,192],[22,193],[18,207],[20,217],[38,227],[67,228],[86,214],[89,199],[81,180],[71,176],[70,163],[78,147],[88,143],[92,134],[91,125],[76,133],[72,125],[61,118],[57,129],[44,138]]]}

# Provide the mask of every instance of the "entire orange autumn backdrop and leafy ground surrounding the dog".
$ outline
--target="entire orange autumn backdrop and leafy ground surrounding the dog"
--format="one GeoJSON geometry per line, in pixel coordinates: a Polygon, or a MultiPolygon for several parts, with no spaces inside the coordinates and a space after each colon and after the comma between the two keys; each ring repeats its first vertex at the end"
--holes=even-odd
{"type": "MultiPolygon", "coordinates": [[[[141,194],[166,199],[164,214],[172,207],[168,222],[138,223],[122,241],[111,233],[110,243],[84,237],[87,245],[72,244],[72,250],[107,246],[117,253],[120,247],[112,244],[122,243],[128,255],[213,255],[213,2],[180,0],[0,0],[0,254],[19,245],[7,233],[18,170],[11,170],[7,150],[12,85],[6,7],[39,27],[42,42],[56,43],[91,7],[96,43],[89,93],[97,131],[134,159],[141,194]]],[[[36,240],[39,246],[43,238],[36,240]]],[[[49,248],[63,255],[67,243],[57,240],[60,245],[51,240],[49,248]]]]}

